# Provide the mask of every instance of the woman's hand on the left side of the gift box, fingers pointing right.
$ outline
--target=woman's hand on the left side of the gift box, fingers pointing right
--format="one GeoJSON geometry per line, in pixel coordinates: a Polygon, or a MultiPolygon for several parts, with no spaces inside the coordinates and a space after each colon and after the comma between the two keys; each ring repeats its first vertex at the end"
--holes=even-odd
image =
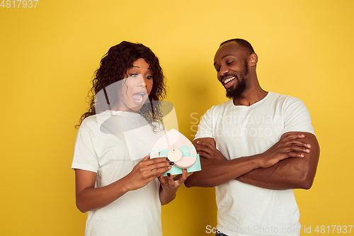
{"type": "Polygon", "coordinates": [[[173,162],[167,160],[166,157],[150,159],[150,154],[148,154],[125,176],[128,179],[127,190],[132,191],[144,187],[171,169],[171,165],[173,162]]]}

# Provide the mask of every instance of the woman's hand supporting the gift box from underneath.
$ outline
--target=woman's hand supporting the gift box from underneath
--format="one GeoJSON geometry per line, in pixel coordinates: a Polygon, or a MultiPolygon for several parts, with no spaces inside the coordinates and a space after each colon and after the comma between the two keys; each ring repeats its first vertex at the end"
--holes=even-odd
{"type": "Polygon", "coordinates": [[[182,174],[178,174],[174,178],[172,178],[170,173],[167,173],[165,177],[162,175],[159,176],[161,183],[160,201],[162,205],[169,203],[176,197],[176,191],[191,174],[193,172],[187,173],[187,169],[183,169],[182,174]]]}

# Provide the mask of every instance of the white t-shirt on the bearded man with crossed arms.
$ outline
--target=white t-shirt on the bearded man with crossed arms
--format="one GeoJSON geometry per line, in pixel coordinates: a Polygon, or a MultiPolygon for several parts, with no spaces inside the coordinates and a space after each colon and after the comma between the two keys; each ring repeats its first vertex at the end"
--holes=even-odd
{"type": "MultiPolygon", "coordinates": [[[[210,108],[198,125],[195,139],[212,137],[227,159],[268,150],[282,134],[314,134],[309,111],[297,98],[268,92],[251,106],[232,100],[210,108]]],[[[299,208],[290,190],[263,189],[230,180],[215,187],[217,229],[236,235],[299,235],[299,208]]]]}

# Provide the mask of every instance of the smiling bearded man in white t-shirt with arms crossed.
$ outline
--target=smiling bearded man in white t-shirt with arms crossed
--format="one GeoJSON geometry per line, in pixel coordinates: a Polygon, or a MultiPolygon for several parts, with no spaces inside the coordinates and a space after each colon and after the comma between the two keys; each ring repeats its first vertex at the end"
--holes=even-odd
{"type": "Polygon", "coordinates": [[[319,144],[304,103],[264,91],[257,62],[246,40],[217,50],[217,79],[230,100],[202,117],[193,141],[202,172],[185,186],[216,186],[217,235],[299,235],[292,189],[312,186],[319,144]]]}

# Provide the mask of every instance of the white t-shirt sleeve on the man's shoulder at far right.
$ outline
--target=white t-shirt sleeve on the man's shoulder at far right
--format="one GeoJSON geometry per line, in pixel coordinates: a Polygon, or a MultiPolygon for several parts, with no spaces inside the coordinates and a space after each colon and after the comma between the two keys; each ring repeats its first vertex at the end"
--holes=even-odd
{"type": "Polygon", "coordinates": [[[314,134],[309,110],[305,104],[297,98],[285,101],[284,105],[284,133],[306,132],[314,134]]]}

